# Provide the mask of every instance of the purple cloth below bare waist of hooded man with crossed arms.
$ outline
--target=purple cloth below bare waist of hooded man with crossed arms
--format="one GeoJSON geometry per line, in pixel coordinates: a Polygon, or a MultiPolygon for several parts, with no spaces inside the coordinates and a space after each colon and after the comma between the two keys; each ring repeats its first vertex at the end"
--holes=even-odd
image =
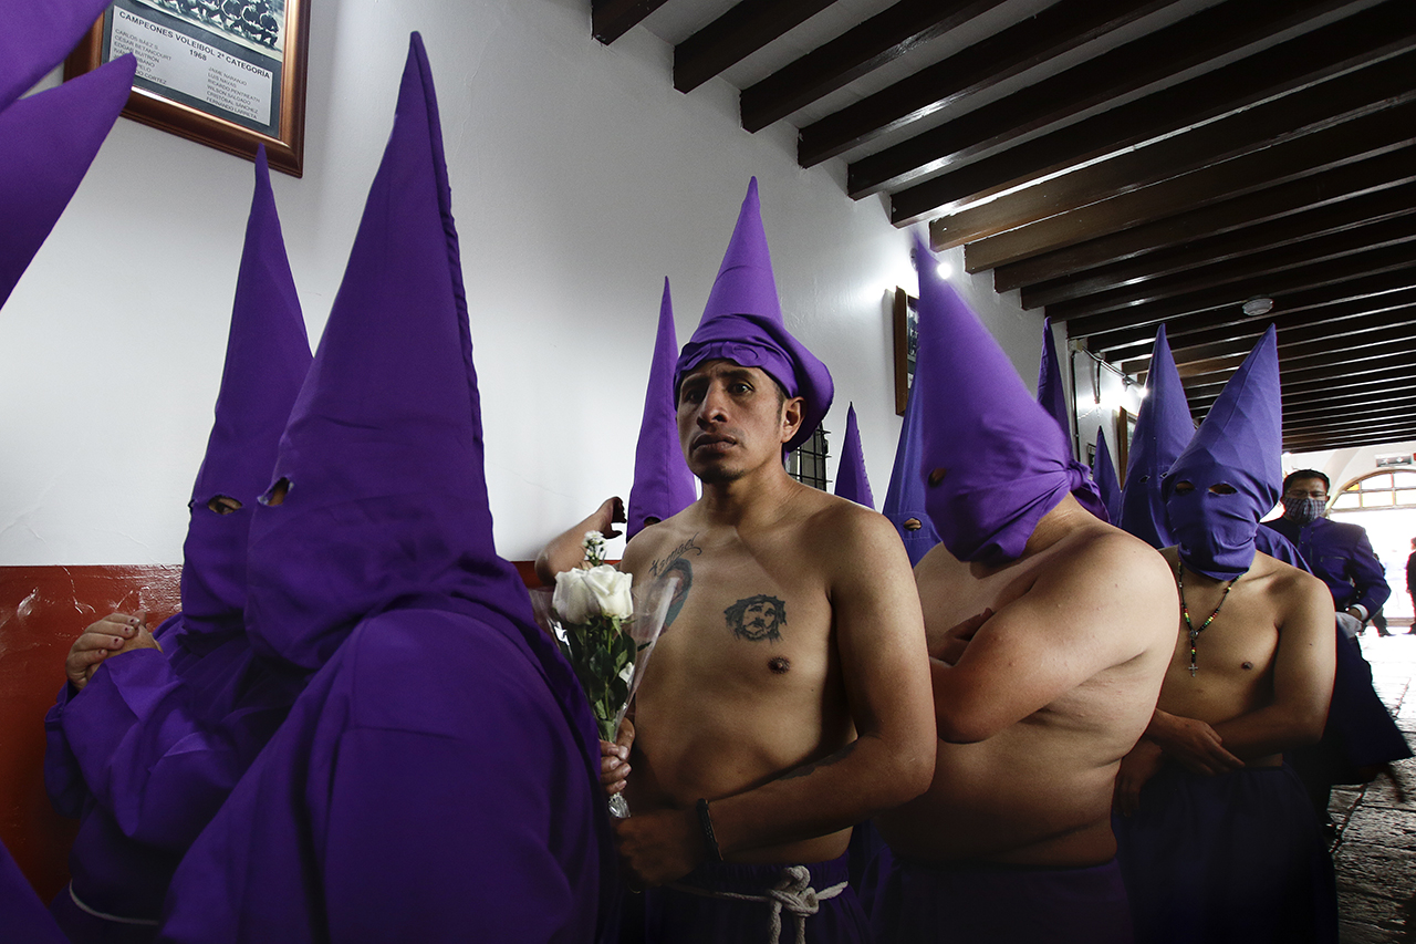
{"type": "Polygon", "coordinates": [[[895,859],[871,916],[875,944],[1131,944],[1113,859],[1086,869],[933,867],[895,859]]]}

